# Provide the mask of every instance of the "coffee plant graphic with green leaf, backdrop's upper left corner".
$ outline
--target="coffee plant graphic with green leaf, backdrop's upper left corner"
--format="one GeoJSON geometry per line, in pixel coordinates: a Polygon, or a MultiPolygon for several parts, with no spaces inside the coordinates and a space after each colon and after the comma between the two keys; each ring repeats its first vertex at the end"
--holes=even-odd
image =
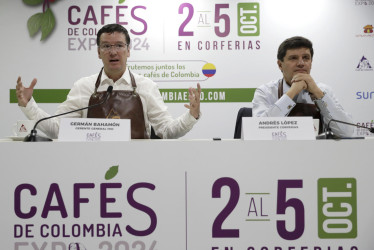
{"type": "MultiPolygon", "coordinates": [[[[51,9],[51,5],[59,0],[22,0],[26,5],[37,6],[43,4],[42,12],[32,15],[27,20],[27,29],[30,37],[35,36],[39,30],[42,32],[40,41],[47,39],[55,28],[56,20],[51,9]]],[[[119,4],[124,3],[125,0],[118,0],[119,4]]]]}

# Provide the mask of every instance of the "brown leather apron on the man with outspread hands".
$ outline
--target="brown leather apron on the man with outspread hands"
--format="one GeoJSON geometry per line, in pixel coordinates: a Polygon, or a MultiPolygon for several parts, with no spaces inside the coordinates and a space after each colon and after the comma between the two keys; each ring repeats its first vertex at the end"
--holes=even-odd
{"type": "MultiPolygon", "coordinates": [[[[103,69],[97,77],[95,92],[90,97],[89,106],[102,102],[107,93],[106,91],[97,92],[103,69]]],[[[130,119],[131,139],[149,139],[145,129],[142,101],[136,93],[134,76],[131,72],[129,73],[133,91],[113,90],[104,104],[88,109],[87,118],[130,119]]]]}

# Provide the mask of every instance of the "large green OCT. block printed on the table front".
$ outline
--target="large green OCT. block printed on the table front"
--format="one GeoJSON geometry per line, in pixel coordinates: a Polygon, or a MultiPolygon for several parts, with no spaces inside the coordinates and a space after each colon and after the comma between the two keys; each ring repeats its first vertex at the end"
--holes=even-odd
{"type": "Polygon", "coordinates": [[[322,239],[357,237],[356,179],[318,180],[318,236],[322,239]]]}

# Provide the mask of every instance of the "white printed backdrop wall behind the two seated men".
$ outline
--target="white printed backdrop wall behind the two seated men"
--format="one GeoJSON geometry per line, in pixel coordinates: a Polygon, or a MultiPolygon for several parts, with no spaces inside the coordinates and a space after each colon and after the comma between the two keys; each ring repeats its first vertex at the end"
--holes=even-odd
{"type": "Polygon", "coordinates": [[[281,77],[277,48],[295,35],[314,43],[314,79],[356,123],[374,126],[373,0],[16,0],[0,3],[2,138],[25,118],[17,77],[38,79],[34,97],[53,114],[76,80],[100,70],[96,32],[113,22],[130,32],[130,68],[157,82],[173,116],[201,83],[203,117],[185,138],[232,138],[238,109],[281,77]]]}

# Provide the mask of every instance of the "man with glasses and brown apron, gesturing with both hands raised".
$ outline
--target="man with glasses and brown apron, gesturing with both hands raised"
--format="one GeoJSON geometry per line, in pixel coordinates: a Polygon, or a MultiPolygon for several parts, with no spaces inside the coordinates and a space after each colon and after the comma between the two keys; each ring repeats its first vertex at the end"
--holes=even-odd
{"type": "MultiPolygon", "coordinates": [[[[150,79],[132,73],[127,68],[130,56],[130,36],[128,31],[118,24],[108,24],[97,33],[98,56],[103,62],[100,73],[84,77],[75,82],[66,101],[56,114],[61,114],[100,103],[106,95],[108,86],[113,86],[107,102],[92,109],[69,114],[69,117],[122,118],[131,119],[131,138],[146,139],[151,134],[151,126],[160,138],[179,138],[190,131],[199,119],[200,84],[197,89],[189,88],[189,109],[177,119],[167,111],[157,85],[150,79]]],[[[31,120],[49,116],[38,107],[32,93],[36,79],[28,88],[18,77],[16,93],[18,105],[31,120]]],[[[65,116],[66,117],[66,116],[65,116]]],[[[57,138],[59,120],[45,120],[39,128],[52,138],[57,138]]]]}

